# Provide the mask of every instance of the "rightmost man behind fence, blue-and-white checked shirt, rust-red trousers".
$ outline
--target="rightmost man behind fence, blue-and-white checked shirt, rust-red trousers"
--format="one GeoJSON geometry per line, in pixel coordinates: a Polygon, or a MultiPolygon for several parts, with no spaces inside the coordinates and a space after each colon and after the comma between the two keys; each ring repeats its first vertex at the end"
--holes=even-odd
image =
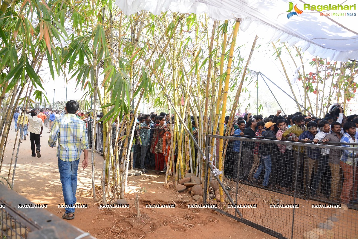
{"type": "MultiPolygon", "coordinates": [[[[358,143],[355,137],[355,124],[347,122],[343,125],[344,135],[340,139],[341,143],[358,143]]],[[[352,147],[352,145],[342,145],[343,147],[352,147]]],[[[353,203],[357,202],[357,187],[358,187],[358,170],[357,170],[357,151],[344,150],[340,157],[339,165],[342,168],[344,181],[342,193],[340,194],[340,201],[348,204],[351,199],[353,203]],[[354,182],[354,188],[353,188],[354,182]],[[353,193],[351,193],[353,189],[353,193]]]]}

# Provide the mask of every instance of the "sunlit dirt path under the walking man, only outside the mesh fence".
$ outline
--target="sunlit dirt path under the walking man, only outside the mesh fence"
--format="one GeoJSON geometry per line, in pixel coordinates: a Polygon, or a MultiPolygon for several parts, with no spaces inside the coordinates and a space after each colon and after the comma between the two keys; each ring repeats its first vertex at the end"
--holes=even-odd
{"type": "MultiPolygon", "coordinates": [[[[62,187],[59,180],[56,150],[47,145],[49,133],[44,128],[41,142],[41,158],[30,157],[30,140],[21,143],[18,164],[14,182],[14,190],[35,204],[48,204],[47,210],[62,217],[64,209],[58,208],[63,204],[62,187]]],[[[14,127],[9,132],[7,150],[4,157],[1,176],[7,177],[14,147],[16,132],[14,127]]],[[[15,159],[14,159],[15,160],[15,159]]],[[[81,156],[80,164],[83,160],[81,156]]],[[[103,160],[96,153],[96,184],[100,184],[99,174],[102,171],[103,160]]],[[[68,223],[88,231],[97,238],[227,238],[227,239],[265,239],[273,238],[250,226],[238,223],[236,220],[216,213],[211,209],[188,209],[183,203],[194,203],[187,193],[177,193],[164,187],[164,175],[156,175],[153,171],[141,176],[128,179],[129,186],[136,190],[144,187],[146,193],[140,196],[141,218],[136,218],[134,194],[125,195],[130,208],[113,210],[99,209],[88,191],[92,187],[91,166],[86,170],[78,170],[77,203],[88,204],[88,208],[76,209],[76,218],[68,223]],[[176,202],[175,208],[153,209],[145,208],[145,204],[168,204],[176,202]],[[183,205],[181,206],[180,204],[183,205]],[[142,237],[141,237],[142,236],[142,237]]],[[[12,170],[11,170],[12,174],[12,170]]],[[[11,175],[10,175],[11,179],[11,175]]],[[[99,201],[99,199],[98,199],[99,201]]]]}

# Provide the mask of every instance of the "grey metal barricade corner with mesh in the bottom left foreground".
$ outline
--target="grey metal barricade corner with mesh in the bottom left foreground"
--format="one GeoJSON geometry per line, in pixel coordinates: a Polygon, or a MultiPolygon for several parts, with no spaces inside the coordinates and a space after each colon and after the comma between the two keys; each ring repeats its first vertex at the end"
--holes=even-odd
{"type": "Polygon", "coordinates": [[[0,238],[1,239],[95,239],[63,219],[38,207],[25,197],[0,184],[0,238]]]}

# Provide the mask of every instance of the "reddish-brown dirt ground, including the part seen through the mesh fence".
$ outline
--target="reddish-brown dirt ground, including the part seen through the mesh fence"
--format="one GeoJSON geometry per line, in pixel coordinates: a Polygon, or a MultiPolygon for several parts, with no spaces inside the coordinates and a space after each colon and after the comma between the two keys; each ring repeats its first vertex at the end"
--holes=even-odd
{"type": "MultiPolygon", "coordinates": [[[[64,209],[58,208],[63,204],[62,187],[59,180],[56,149],[47,145],[47,128],[44,128],[40,138],[42,144],[41,158],[30,157],[30,140],[22,141],[19,159],[16,167],[14,190],[35,204],[48,204],[47,210],[62,217],[64,209]]],[[[8,175],[9,162],[15,140],[14,128],[10,130],[7,151],[5,153],[1,176],[8,175]]],[[[91,155],[91,154],[89,154],[91,155]]],[[[98,153],[96,155],[95,177],[96,185],[100,184],[103,160],[98,153]]],[[[80,164],[83,160],[81,156],[80,164]]],[[[136,218],[134,206],[135,196],[128,189],[125,199],[130,208],[115,208],[112,210],[98,207],[100,198],[93,200],[90,193],[92,187],[91,166],[86,170],[78,170],[77,203],[88,204],[88,208],[76,209],[76,218],[67,222],[91,233],[100,239],[128,238],[227,238],[227,239],[266,239],[274,238],[266,233],[224,216],[212,209],[189,209],[188,204],[195,201],[187,192],[178,193],[173,188],[164,187],[164,175],[157,175],[153,171],[141,176],[130,176],[128,185],[136,191],[144,187],[146,192],[140,196],[141,217],[136,218]],[[145,208],[145,204],[173,204],[175,208],[145,208]]],[[[12,170],[11,170],[12,174],[12,170]]],[[[11,176],[10,176],[11,179],[11,176]]],[[[227,182],[233,190],[231,194],[235,198],[236,183],[227,182]]],[[[257,204],[254,209],[240,209],[243,218],[260,224],[268,229],[291,236],[292,208],[270,208],[269,204],[299,204],[295,209],[293,238],[302,238],[302,233],[312,230],[319,222],[324,222],[335,209],[313,209],[313,201],[305,201],[293,197],[270,192],[252,186],[239,184],[238,204],[257,204]]],[[[216,201],[210,201],[216,204],[216,201]]],[[[233,209],[226,209],[233,214],[233,209]]],[[[358,231],[356,221],[357,211],[349,210],[340,217],[340,221],[332,231],[329,231],[321,239],[357,239],[358,231]]]]}

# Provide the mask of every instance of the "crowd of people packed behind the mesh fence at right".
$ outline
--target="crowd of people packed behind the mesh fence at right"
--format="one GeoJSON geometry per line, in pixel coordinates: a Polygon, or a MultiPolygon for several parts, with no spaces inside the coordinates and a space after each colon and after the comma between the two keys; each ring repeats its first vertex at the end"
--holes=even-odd
{"type": "MultiPolygon", "coordinates": [[[[358,151],[314,147],[327,142],[330,145],[357,147],[358,144],[349,143],[358,143],[358,115],[345,116],[338,104],[332,106],[325,118],[301,112],[287,116],[280,114],[280,110],[265,118],[262,115],[252,116],[247,111],[244,115],[240,112],[236,114],[231,136],[282,142],[229,141],[224,161],[225,176],[285,192],[296,189],[298,194],[308,191],[308,196],[312,197],[358,203],[358,151]],[[284,141],[311,145],[292,146],[284,141]],[[238,168],[240,171],[237,171],[238,168]]],[[[227,121],[228,117],[226,124],[227,121]]]]}

